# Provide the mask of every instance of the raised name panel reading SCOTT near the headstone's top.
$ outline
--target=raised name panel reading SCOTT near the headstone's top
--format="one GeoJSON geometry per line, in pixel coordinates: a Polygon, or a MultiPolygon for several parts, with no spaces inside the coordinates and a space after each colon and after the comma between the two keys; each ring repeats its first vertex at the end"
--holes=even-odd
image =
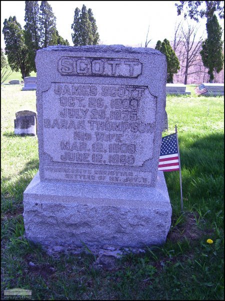
{"type": "Polygon", "coordinates": [[[138,59],[61,57],[58,61],[58,72],[67,76],[137,78],[142,74],[142,64],[138,59]]]}

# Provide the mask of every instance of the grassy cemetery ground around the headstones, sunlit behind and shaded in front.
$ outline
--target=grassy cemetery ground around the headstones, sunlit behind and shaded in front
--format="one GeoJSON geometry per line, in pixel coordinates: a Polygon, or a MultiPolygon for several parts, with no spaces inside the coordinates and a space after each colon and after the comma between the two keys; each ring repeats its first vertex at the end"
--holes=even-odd
{"type": "Polygon", "coordinates": [[[1,86],[1,298],[4,289],[26,288],[32,299],[223,299],[224,99],[195,96],[194,87],[191,96],[166,98],[163,135],[176,124],[183,213],[179,172],[164,173],[172,206],[166,243],[99,262],[88,246],[51,257],[23,236],[23,192],[38,171],[38,146],[37,137],[14,135],[13,119],[35,111],[35,91],[1,86]]]}

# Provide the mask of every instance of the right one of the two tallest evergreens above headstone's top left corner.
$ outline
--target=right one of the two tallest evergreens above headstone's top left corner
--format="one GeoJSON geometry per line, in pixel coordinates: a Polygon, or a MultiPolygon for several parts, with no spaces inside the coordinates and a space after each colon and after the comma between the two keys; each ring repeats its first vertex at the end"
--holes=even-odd
{"type": "Polygon", "coordinates": [[[49,45],[55,45],[54,34],[56,30],[56,18],[52,12],[51,6],[47,1],[41,1],[40,4],[40,43],[41,48],[49,45]],[[52,44],[53,43],[53,44],[52,44]]]}

